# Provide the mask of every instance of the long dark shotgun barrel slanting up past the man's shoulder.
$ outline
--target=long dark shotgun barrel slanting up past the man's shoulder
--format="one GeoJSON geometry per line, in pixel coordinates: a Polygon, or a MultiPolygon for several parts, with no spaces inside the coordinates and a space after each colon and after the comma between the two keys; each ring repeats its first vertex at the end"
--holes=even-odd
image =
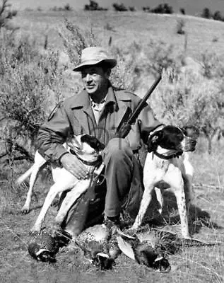
{"type": "Polygon", "coordinates": [[[141,110],[143,110],[144,106],[146,105],[146,101],[148,100],[149,96],[153,93],[155,88],[158,86],[158,83],[161,81],[162,76],[161,74],[155,79],[154,83],[152,84],[151,88],[148,89],[146,95],[142,98],[142,100],[138,103],[138,106],[131,114],[129,119],[126,122],[121,122],[120,126],[117,128],[117,136],[122,137],[123,139],[129,134],[131,130],[131,125],[136,122],[136,118],[138,117],[141,110]]]}

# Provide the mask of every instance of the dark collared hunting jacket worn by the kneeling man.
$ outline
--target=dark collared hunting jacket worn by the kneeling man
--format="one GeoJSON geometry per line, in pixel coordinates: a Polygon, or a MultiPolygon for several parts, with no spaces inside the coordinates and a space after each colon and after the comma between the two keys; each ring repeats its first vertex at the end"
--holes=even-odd
{"type": "MultiPolygon", "coordinates": [[[[59,163],[61,156],[67,153],[62,144],[71,134],[91,134],[107,145],[110,139],[117,137],[117,128],[127,120],[140,100],[135,94],[117,91],[110,85],[105,108],[97,125],[89,95],[83,90],[78,96],[64,100],[40,127],[37,149],[47,161],[59,163]]],[[[146,104],[126,137],[131,149],[138,150],[141,147],[141,139],[147,142],[149,132],[158,125],[160,122],[155,119],[153,111],[146,104]]]]}

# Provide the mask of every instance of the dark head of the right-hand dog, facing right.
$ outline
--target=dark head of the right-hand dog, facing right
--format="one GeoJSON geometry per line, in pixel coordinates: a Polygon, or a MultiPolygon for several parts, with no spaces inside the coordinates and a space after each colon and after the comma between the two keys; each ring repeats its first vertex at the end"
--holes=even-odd
{"type": "MultiPolygon", "coordinates": [[[[185,131],[187,133],[187,129],[185,131]]],[[[155,151],[158,146],[163,149],[182,151],[194,151],[196,140],[187,137],[179,127],[165,126],[163,129],[153,132],[148,140],[148,152],[155,151]]]]}

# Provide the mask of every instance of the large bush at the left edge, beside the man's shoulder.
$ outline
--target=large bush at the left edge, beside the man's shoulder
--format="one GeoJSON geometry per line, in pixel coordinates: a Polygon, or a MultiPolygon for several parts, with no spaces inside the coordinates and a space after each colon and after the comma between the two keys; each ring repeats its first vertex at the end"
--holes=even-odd
{"type": "Polygon", "coordinates": [[[61,100],[63,78],[58,66],[59,53],[52,50],[40,53],[40,47],[28,37],[16,40],[13,33],[2,36],[0,112],[4,130],[0,139],[4,140],[9,156],[29,159],[40,124],[46,120],[52,105],[61,100]]]}

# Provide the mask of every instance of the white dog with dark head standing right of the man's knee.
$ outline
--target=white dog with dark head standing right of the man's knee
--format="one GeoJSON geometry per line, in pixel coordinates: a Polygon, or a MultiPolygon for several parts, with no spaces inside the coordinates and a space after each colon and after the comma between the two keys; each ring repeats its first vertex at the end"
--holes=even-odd
{"type": "Polygon", "coordinates": [[[132,229],[141,225],[153,190],[155,189],[162,210],[163,194],[160,190],[171,187],[177,199],[182,237],[190,238],[188,222],[194,170],[185,151],[194,151],[197,136],[198,132],[191,127],[180,129],[160,126],[153,131],[149,137],[148,154],[143,168],[145,190],[132,229]]]}

